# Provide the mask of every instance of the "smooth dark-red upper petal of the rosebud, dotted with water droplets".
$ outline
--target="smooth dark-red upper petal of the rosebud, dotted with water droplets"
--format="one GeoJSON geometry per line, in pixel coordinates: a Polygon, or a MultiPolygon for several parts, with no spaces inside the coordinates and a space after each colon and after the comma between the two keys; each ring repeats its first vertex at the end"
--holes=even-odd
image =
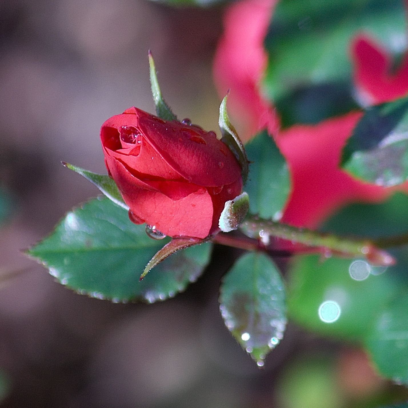
{"type": "Polygon", "coordinates": [[[241,178],[237,160],[214,133],[154,116],[140,118],[138,127],[167,164],[189,182],[207,187],[241,178]]]}

